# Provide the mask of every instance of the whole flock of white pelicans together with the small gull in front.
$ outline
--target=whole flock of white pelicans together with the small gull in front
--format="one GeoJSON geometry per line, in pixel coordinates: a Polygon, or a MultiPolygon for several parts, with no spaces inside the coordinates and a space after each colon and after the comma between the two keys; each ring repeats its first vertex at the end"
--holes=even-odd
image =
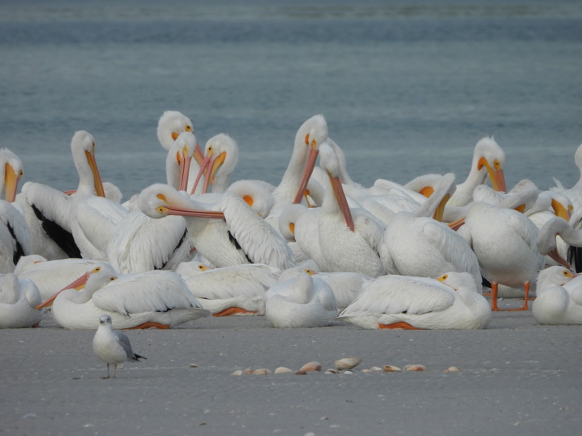
{"type": "MultiPolygon", "coordinates": [[[[508,191],[492,138],[478,141],[463,183],[426,174],[368,188],[347,174],[321,115],[297,130],[278,186],[230,183],[236,142],[219,134],[201,149],[182,113],[164,112],[158,139],[167,184],[125,203],[101,181],[86,131],[70,144],[74,191],[27,182],[17,194],[22,162],[0,151],[0,327],[37,326],[52,306],[60,327],[108,328],[96,352],[116,344],[125,360],[129,342],[111,326],[171,328],[210,315],[265,315],[274,327],[485,328],[498,296],[523,298],[511,310],[527,310],[535,292],[538,323],[582,324],[573,262],[582,230],[572,224],[582,179],[508,191]]],[[[575,159],[582,168],[582,146],[575,159]]]]}

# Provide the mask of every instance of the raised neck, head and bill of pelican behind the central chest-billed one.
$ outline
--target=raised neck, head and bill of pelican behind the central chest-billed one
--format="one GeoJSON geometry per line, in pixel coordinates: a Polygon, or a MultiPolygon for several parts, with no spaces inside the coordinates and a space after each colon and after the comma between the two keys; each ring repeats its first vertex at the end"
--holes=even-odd
{"type": "Polygon", "coordinates": [[[289,165],[281,178],[281,183],[273,192],[274,210],[301,202],[317,160],[319,146],[327,140],[327,135],[327,122],[323,115],[314,115],[301,124],[295,135],[289,165]]]}

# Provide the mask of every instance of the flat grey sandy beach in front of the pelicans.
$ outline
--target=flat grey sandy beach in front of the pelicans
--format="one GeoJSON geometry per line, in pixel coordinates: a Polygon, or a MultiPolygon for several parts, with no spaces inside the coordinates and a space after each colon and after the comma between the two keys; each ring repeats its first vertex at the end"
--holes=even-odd
{"type": "Polygon", "coordinates": [[[130,330],[147,360],[104,380],[94,331],[45,314],[39,328],[0,332],[0,434],[579,434],[580,327],[493,315],[478,331],[277,329],[264,316],[130,330]],[[352,374],[324,372],[348,356],[362,359],[352,374]],[[321,372],[231,375],[313,360],[321,372]],[[385,364],[428,370],[362,371],[385,364]]]}

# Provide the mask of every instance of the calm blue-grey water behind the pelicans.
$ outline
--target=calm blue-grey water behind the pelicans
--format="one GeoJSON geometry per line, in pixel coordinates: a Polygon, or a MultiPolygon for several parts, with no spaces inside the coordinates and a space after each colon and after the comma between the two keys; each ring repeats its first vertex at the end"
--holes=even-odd
{"type": "Polygon", "coordinates": [[[70,138],[97,142],[125,198],[165,181],[155,130],[189,116],[230,134],[232,180],[278,183],[297,128],[322,113],[350,176],[469,173],[494,135],[508,187],[579,178],[580,1],[3,1],[0,146],[23,182],[76,187],[70,138]]]}

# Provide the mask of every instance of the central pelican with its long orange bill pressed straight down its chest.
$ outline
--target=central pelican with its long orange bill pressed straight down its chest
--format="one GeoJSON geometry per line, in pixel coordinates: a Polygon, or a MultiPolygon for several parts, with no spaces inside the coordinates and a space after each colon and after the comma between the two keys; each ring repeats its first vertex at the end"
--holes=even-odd
{"type": "MultiPolygon", "coordinates": [[[[364,209],[350,209],[339,178],[339,163],[328,144],[320,146],[320,165],[329,175],[331,187],[325,191],[318,211],[318,238],[321,258],[314,258],[324,272],[347,271],[378,277],[385,273],[378,255],[385,227],[364,209]]],[[[295,223],[295,239],[303,242],[295,223]]],[[[308,241],[309,242],[309,241],[308,241]]]]}

